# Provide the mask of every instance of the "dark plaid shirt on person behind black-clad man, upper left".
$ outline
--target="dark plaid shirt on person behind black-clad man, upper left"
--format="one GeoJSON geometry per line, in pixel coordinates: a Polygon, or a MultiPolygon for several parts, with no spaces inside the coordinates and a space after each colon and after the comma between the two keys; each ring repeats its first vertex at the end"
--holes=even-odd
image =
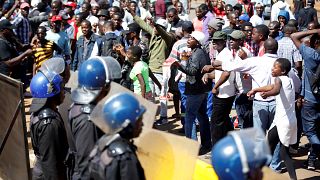
{"type": "Polygon", "coordinates": [[[14,30],[17,37],[23,44],[29,44],[30,40],[30,23],[28,18],[22,16],[21,13],[12,21],[12,24],[16,25],[17,28],[14,30]]]}

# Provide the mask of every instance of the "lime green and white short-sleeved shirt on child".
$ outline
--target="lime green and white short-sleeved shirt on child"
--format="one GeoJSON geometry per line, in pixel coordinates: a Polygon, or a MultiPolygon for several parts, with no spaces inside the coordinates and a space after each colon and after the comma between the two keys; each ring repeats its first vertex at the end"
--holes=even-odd
{"type": "Polygon", "coordinates": [[[151,91],[150,85],[149,85],[149,67],[148,64],[143,61],[138,61],[134,64],[131,72],[130,72],[130,79],[133,80],[133,90],[134,93],[141,95],[141,87],[138,80],[137,75],[141,74],[144,80],[144,83],[146,85],[146,92],[151,91]]]}

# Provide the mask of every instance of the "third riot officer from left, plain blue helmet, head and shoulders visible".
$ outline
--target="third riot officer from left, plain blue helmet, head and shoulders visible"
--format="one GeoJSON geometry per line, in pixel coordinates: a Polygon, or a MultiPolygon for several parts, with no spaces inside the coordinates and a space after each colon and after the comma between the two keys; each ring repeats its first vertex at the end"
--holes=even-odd
{"type": "Polygon", "coordinates": [[[129,93],[108,98],[94,110],[92,121],[106,135],[97,142],[90,154],[90,179],[145,179],[132,139],[142,131],[142,116],[146,109],[129,93]]]}

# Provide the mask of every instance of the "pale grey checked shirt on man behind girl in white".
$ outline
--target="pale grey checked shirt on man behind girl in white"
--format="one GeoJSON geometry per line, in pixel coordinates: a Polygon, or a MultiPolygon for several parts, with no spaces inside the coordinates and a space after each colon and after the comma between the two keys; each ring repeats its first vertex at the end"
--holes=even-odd
{"type": "Polygon", "coordinates": [[[292,68],[295,68],[296,62],[302,61],[302,56],[290,37],[283,37],[278,41],[278,57],[288,59],[292,68]]]}

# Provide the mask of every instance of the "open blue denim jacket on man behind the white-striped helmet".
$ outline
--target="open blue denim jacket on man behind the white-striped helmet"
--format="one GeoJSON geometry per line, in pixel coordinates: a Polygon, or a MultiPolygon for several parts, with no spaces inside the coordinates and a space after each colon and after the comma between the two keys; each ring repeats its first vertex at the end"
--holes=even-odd
{"type": "Polygon", "coordinates": [[[81,35],[79,37],[77,44],[76,44],[76,52],[74,54],[74,59],[72,62],[71,70],[75,71],[75,70],[79,69],[80,65],[84,61],[89,59],[95,43],[97,43],[98,49],[100,51],[98,55],[101,55],[102,40],[101,40],[100,36],[92,33],[86,49],[84,47],[84,36],[81,35]]]}

